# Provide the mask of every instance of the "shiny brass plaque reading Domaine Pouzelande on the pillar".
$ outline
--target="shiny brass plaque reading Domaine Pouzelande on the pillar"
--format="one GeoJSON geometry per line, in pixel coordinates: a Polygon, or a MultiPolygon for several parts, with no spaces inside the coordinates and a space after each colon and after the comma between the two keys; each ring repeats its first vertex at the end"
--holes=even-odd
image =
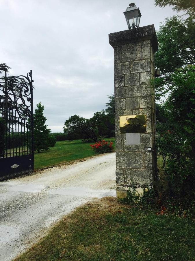
{"type": "Polygon", "coordinates": [[[120,116],[120,133],[146,133],[146,115],[120,116]]]}

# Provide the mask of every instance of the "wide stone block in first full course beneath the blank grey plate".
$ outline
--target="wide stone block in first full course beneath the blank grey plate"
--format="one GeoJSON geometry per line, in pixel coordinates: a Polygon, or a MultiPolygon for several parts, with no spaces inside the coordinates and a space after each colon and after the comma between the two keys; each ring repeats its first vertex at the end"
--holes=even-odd
{"type": "Polygon", "coordinates": [[[143,153],[116,151],[116,167],[117,168],[143,168],[143,153]]]}

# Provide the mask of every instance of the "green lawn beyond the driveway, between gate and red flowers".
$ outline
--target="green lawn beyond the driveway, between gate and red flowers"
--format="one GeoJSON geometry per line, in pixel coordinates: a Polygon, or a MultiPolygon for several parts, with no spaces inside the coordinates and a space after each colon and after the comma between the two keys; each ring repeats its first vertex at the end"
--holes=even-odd
{"type": "MultiPolygon", "coordinates": [[[[113,142],[115,149],[115,138],[105,140],[113,142]]],[[[68,140],[59,141],[48,151],[34,154],[34,168],[44,168],[94,155],[97,155],[97,153],[94,153],[90,143],[81,142],[80,139],[70,142],[68,140]]]]}

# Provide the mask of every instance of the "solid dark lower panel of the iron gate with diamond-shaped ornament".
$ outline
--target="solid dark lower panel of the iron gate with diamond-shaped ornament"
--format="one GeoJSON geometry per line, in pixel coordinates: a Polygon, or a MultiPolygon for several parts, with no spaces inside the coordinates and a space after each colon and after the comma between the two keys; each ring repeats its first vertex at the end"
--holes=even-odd
{"type": "Polygon", "coordinates": [[[0,159],[0,180],[34,171],[34,155],[21,155],[0,159]]]}

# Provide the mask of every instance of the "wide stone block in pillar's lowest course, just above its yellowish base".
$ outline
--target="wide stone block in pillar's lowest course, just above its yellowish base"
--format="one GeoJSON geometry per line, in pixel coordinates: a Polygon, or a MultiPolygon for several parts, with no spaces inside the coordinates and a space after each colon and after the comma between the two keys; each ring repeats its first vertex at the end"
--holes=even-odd
{"type": "Polygon", "coordinates": [[[132,180],[136,187],[152,185],[152,170],[125,168],[125,184],[132,186],[132,180]]]}

